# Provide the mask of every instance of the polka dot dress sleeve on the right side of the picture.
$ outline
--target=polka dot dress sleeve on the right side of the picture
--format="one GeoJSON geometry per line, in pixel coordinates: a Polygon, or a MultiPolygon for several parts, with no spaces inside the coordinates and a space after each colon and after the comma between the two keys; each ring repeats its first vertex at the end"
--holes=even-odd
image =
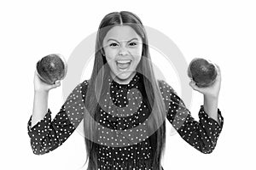
{"type": "Polygon", "coordinates": [[[166,118],[172,123],[177,133],[196,150],[209,154],[214,150],[219,134],[222,131],[224,118],[218,109],[218,122],[208,116],[201,105],[199,122],[191,116],[183,100],[180,99],[173,88],[165,81],[160,81],[160,92],[166,104],[166,118]]]}

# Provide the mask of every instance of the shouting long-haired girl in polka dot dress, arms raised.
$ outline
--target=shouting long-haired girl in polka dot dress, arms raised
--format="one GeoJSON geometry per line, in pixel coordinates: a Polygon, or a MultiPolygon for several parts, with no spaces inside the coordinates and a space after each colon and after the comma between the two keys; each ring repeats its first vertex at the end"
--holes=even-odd
{"type": "Polygon", "coordinates": [[[53,121],[48,93],[61,83],[47,85],[35,74],[33,113],[27,124],[33,153],[55,150],[83,122],[87,169],[160,170],[165,118],[196,150],[211,153],[224,123],[218,110],[220,78],[218,68],[211,87],[189,83],[204,95],[196,122],[172,87],[154,77],[142,21],[127,11],[107,14],[97,31],[90,79],[73,89],[53,121]]]}

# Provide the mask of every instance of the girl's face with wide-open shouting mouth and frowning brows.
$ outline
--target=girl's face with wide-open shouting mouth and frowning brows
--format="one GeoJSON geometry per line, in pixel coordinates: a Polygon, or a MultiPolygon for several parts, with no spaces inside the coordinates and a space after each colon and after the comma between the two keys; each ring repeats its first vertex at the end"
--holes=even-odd
{"type": "Polygon", "coordinates": [[[142,57],[142,38],[131,26],[113,26],[103,39],[103,49],[113,79],[130,82],[142,57]]]}

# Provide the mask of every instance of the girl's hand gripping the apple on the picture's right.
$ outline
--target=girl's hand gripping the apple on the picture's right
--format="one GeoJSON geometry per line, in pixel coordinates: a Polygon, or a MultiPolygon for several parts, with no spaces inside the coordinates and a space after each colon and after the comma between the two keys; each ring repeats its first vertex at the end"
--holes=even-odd
{"type": "Polygon", "coordinates": [[[199,88],[198,86],[196,86],[195,82],[191,80],[191,82],[189,82],[189,85],[191,86],[191,88],[193,88],[195,91],[200,92],[201,94],[204,94],[207,97],[218,99],[218,94],[219,94],[220,84],[221,84],[221,72],[220,72],[219,66],[218,65],[216,66],[218,70],[218,75],[216,77],[215,82],[211,86],[207,88],[199,88]]]}

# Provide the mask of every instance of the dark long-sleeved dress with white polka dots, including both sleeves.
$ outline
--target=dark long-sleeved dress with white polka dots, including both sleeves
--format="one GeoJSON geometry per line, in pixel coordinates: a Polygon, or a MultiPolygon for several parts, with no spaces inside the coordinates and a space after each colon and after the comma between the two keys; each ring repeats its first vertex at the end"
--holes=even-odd
{"type": "MultiPolygon", "coordinates": [[[[144,90],[143,75],[137,72],[128,84],[119,84],[108,78],[110,91],[103,96],[96,113],[98,169],[148,169],[152,170],[155,144],[154,133],[146,126],[150,107],[144,90]]],[[[166,105],[166,118],[172,127],[196,150],[208,154],[214,150],[221,133],[224,118],[218,110],[218,122],[204,111],[199,111],[199,122],[170,85],[158,81],[162,99],[166,105]]],[[[61,110],[51,120],[51,111],[44,119],[31,127],[32,116],[27,123],[34,154],[42,155],[55,150],[79,126],[84,118],[84,97],[88,81],[79,83],[67,97],[61,110]]],[[[163,169],[163,168],[162,168],[163,169]]]]}

